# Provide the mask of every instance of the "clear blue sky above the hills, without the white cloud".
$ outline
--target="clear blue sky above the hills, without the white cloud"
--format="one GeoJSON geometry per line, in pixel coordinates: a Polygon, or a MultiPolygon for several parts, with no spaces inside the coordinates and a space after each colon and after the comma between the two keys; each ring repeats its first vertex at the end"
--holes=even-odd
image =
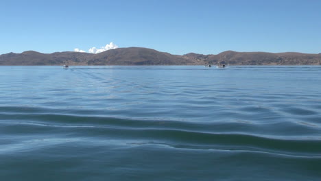
{"type": "Polygon", "coordinates": [[[321,52],[319,0],[3,0],[0,54],[110,42],[174,54],[321,52]]]}

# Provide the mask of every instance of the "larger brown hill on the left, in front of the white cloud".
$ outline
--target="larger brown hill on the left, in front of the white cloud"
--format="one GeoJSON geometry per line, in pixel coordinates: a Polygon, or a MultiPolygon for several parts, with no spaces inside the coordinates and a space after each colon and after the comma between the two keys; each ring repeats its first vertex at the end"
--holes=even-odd
{"type": "Polygon", "coordinates": [[[110,49],[102,53],[64,51],[56,53],[6,53],[0,56],[0,65],[174,65],[195,64],[185,56],[175,56],[154,49],[130,47],[110,49]]]}

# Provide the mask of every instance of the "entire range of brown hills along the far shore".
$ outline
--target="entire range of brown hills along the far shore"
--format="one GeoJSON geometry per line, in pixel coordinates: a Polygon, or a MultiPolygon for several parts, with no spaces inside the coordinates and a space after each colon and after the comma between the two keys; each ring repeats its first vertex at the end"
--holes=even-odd
{"type": "Polygon", "coordinates": [[[64,51],[56,53],[6,53],[0,55],[0,65],[185,65],[185,64],[321,64],[321,54],[265,53],[224,51],[217,55],[187,53],[184,56],[154,49],[130,47],[110,49],[102,53],[64,51]]]}

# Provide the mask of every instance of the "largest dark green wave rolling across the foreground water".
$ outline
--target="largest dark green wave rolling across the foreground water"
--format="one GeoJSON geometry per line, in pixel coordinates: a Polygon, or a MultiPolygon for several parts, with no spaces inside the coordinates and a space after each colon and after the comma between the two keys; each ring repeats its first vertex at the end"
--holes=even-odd
{"type": "MultiPolygon", "coordinates": [[[[3,115],[1,116],[3,117],[3,115]]],[[[222,132],[208,123],[183,121],[131,120],[106,117],[79,117],[56,114],[22,114],[0,122],[2,134],[38,136],[68,133],[70,138],[111,138],[119,141],[152,141],[186,148],[248,150],[294,156],[320,156],[319,136],[273,136],[253,132],[222,132]],[[211,127],[211,128],[208,128],[211,127]],[[32,132],[30,132],[32,130],[32,132]]],[[[248,125],[248,123],[230,123],[248,125]]],[[[221,125],[222,126],[222,125],[221,125]]],[[[256,125],[252,125],[256,126],[256,125]]]]}

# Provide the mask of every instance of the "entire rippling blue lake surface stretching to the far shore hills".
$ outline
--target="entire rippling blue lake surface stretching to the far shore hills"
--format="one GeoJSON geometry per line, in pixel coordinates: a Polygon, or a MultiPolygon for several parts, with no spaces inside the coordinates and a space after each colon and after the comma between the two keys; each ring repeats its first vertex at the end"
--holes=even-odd
{"type": "Polygon", "coordinates": [[[320,180],[321,67],[0,67],[0,180],[320,180]]]}

